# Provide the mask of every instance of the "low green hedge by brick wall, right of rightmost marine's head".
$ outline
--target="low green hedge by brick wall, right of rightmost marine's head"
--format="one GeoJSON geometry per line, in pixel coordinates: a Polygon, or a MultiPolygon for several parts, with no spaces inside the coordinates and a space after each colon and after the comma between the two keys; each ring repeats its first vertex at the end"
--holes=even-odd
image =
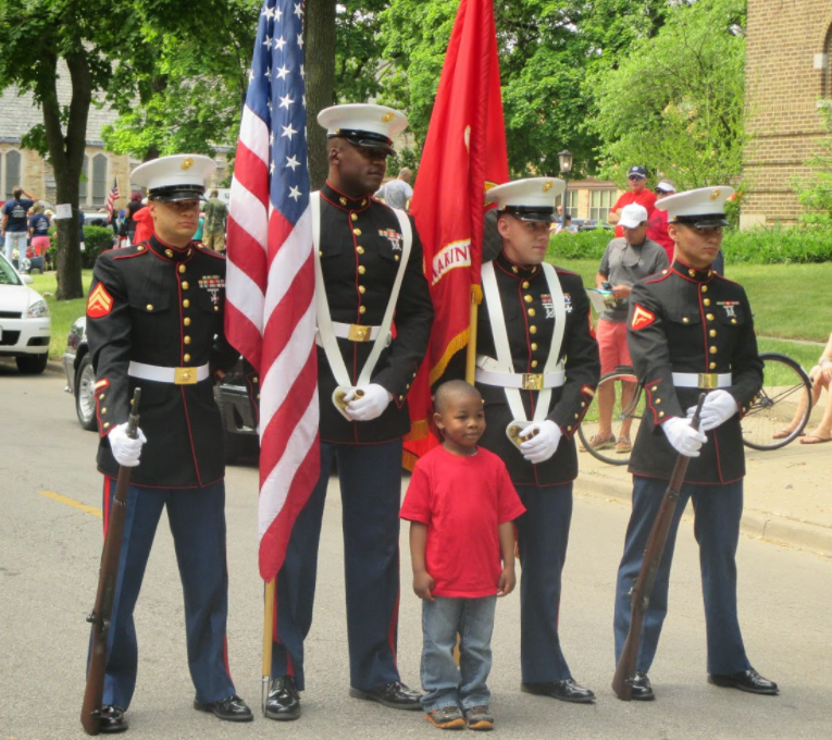
{"type": "Polygon", "coordinates": [[[750,231],[725,231],[725,262],[791,264],[832,261],[832,230],[773,226],[750,231]]]}

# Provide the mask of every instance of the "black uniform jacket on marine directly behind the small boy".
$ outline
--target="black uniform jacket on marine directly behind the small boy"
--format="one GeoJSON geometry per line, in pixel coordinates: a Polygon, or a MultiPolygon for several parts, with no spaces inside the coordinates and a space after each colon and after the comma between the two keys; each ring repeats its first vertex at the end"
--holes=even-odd
{"type": "MultiPolygon", "coordinates": [[[[547,419],[563,432],[555,455],[545,462],[533,465],[506,435],[513,417],[506,391],[496,385],[476,383],[485,402],[485,433],[481,444],[499,455],[517,485],[558,485],[578,477],[578,454],[574,434],[586,414],[598,384],[600,363],[598,344],[589,329],[589,300],[580,275],[556,268],[567,309],[567,326],[559,359],[566,363],[566,383],[551,390],[547,419]]],[[[494,260],[506,319],[514,372],[543,372],[555,333],[555,312],[548,283],[538,266],[512,263],[500,254],[494,260]]],[[[496,358],[488,306],[480,307],[477,320],[477,355],[496,358]]],[[[462,355],[463,353],[458,353],[462,355]]],[[[532,419],[537,391],[520,391],[526,419],[532,419]]]]}

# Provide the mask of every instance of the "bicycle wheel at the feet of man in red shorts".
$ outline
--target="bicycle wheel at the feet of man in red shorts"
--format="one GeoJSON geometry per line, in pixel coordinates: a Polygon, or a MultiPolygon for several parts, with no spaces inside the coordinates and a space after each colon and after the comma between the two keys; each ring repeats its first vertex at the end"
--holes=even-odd
{"type": "Polygon", "coordinates": [[[635,442],[635,436],[638,433],[638,424],[642,421],[643,412],[644,394],[633,368],[620,367],[616,368],[612,372],[601,375],[598,388],[595,392],[595,398],[593,398],[589,410],[578,429],[578,435],[581,437],[579,451],[588,452],[593,457],[609,465],[626,465],[630,462],[632,443],[635,442]],[[598,397],[605,393],[605,388],[609,388],[607,393],[614,397],[612,431],[608,440],[598,444],[596,439],[600,437],[598,397]],[[622,407],[622,397],[625,391],[632,392],[632,398],[622,407]],[[617,442],[621,437],[630,441],[629,447],[617,448],[617,442]],[[595,444],[592,443],[594,439],[596,439],[595,444]]]}

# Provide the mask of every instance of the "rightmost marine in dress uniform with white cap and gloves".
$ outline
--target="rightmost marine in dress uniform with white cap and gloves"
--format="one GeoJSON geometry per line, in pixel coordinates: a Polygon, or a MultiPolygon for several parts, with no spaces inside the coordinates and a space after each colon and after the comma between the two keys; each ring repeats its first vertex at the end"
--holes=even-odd
{"type": "Polygon", "coordinates": [[[675,244],[669,270],[636,283],[630,298],[630,354],[644,385],[646,408],[630,472],[633,510],[616,591],[616,659],[630,629],[630,590],[638,575],[653,522],[680,454],[692,457],[685,484],[644,620],[632,698],[654,699],[647,678],[668,610],[668,580],[676,531],[693,499],[699,543],[708,680],[775,694],[745,654],[736,614],[736,547],[743,513],[741,416],[762,383],[748,298],[741,285],[712,269],[728,225],[730,187],[706,187],[665,198],[668,232],[675,244]],[[699,394],[701,431],[690,425],[699,394]]]}

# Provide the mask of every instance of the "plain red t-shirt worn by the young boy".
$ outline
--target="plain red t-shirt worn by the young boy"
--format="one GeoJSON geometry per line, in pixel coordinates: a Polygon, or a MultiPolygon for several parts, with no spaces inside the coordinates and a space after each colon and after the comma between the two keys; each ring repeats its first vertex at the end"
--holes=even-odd
{"type": "Polygon", "coordinates": [[[497,593],[502,571],[498,527],[525,507],[494,453],[454,455],[435,447],[413,468],[401,518],[427,525],[425,564],[434,596],[480,599],[497,593]]]}

